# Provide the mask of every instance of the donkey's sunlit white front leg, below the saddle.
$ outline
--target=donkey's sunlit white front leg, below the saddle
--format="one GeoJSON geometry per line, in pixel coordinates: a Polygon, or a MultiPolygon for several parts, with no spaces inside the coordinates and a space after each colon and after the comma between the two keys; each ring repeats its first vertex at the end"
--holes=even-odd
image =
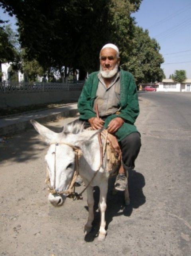
{"type": "Polygon", "coordinates": [[[107,196],[108,184],[103,182],[100,186],[100,199],[99,199],[99,210],[100,210],[100,229],[98,240],[102,241],[105,239],[106,230],[105,230],[105,211],[106,211],[106,196],[107,196]]]}

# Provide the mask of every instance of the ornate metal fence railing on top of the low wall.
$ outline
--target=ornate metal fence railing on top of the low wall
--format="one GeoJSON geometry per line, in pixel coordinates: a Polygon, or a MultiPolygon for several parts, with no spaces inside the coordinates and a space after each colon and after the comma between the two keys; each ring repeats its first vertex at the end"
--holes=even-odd
{"type": "Polygon", "coordinates": [[[43,82],[0,82],[0,94],[18,92],[49,92],[49,91],[78,91],[82,90],[84,81],[75,83],[43,83],[43,82]]]}

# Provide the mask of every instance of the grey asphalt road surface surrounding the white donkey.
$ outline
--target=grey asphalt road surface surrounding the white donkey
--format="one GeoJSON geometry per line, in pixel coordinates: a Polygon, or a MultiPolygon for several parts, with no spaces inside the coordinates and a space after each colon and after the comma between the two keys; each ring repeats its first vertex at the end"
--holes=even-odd
{"type": "MultiPolygon", "coordinates": [[[[48,146],[34,130],[0,143],[0,255],[191,255],[191,93],[139,95],[142,148],[129,177],[131,204],[124,207],[123,194],[111,194],[111,179],[104,242],[96,237],[97,205],[93,231],[83,234],[85,194],[83,200],[67,198],[62,208],[47,202],[48,146]]],[[[58,131],[62,124],[46,125],[58,131]]]]}

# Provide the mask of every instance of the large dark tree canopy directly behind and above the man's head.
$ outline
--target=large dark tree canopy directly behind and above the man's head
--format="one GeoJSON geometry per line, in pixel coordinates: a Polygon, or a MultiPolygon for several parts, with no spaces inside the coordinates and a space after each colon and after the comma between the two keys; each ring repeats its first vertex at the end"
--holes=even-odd
{"type": "Polygon", "coordinates": [[[28,58],[35,58],[47,70],[54,67],[62,72],[65,66],[91,72],[99,66],[103,44],[110,40],[126,42],[128,36],[123,40],[121,36],[132,34],[130,14],[138,10],[141,0],[0,2],[10,15],[16,15],[20,42],[28,58]]]}

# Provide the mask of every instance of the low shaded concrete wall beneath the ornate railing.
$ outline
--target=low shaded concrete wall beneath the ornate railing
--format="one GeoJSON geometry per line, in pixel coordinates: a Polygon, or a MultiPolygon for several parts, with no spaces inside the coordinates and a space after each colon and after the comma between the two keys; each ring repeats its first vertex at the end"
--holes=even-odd
{"type": "Polygon", "coordinates": [[[0,108],[29,106],[33,104],[53,103],[64,101],[65,103],[77,102],[81,91],[51,91],[0,94],[0,108]]]}

